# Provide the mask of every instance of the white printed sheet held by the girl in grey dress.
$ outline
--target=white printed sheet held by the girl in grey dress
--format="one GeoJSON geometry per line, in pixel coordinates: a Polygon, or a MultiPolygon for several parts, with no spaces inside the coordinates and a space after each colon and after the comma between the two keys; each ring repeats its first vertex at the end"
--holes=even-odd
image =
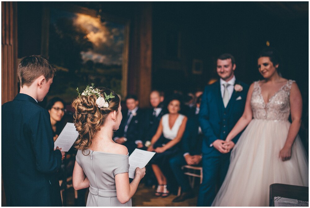
{"type": "Polygon", "coordinates": [[[144,168],[154,155],[155,152],[135,149],[129,156],[129,178],[133,179],[136,167],[144,168]]]}

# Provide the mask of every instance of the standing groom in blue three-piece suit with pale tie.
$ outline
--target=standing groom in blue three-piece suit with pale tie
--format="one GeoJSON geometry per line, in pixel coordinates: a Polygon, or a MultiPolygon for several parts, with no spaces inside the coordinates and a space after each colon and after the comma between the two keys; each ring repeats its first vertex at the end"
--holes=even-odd
{"type": "Polygon", "coordinates": [[[219,81],[206,86],[202,95],[199,123],[203,133],[202,174],[197,206],[211,206],[217,190],[226,176],[230,149],[240,134],[231,142],[225,138],[241,117],[248,85],[234,76],[235,58],[223,54],[217,59],[216,72],[219,81]]]}

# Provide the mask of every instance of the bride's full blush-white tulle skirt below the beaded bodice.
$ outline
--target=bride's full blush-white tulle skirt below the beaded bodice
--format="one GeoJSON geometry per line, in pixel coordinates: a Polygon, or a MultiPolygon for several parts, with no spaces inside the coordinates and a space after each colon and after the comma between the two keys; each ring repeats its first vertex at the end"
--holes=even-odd
{"type": "Polygon", "coordinates": [[[253,119],[232,150],[226,178],[212,206],[269,206],[269,186],[308,186],[308,157],[299,136],[291,159],[282,161],[289,121],[253,119]]]}

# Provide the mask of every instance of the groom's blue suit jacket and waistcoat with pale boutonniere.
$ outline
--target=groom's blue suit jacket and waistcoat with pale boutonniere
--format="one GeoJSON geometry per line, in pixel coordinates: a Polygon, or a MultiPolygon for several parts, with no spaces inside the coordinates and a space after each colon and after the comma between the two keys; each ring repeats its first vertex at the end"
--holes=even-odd
{"type": "MultiPolygon", "coordinates": [[[[210,156],[222,154],[213,146],[210,147],[210,144],[217,139],[225,140],[228,133],[243,114],[249,86],[238,80],[235,83],[240,84],[243,90],[241,92],[233,91],[226,108],[223,104],[220,82],[217,81],[205,87],[199,111],[199,123],[204,134],[202,142],[203,154],[210,156]]],[[[241,133],[233,138],[232,141],[236,143],[240,135],[241,133]]]]}

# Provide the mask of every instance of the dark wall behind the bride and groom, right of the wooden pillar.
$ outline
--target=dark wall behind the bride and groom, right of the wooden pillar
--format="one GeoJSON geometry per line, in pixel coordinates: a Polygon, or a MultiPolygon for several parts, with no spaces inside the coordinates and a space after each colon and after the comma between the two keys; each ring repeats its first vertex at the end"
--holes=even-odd
{"type": "Polygon", "coordinates": [[[236,58],[236,77],[251,84],[262,79],[257,54],[269,41],[282,55],[283,77],[296,80],[308,109],[308,3],[299,6],[303,12],[294,15],[274,2],[153,3],[153,88],[203,88],[217,77],[216,58],[224,52],[236,58]],[[180,43],[171,48],[169,34],[176,33],[180,43]],[[192,73],[193,59],[203,61],[202,75],[192,73]]]}

